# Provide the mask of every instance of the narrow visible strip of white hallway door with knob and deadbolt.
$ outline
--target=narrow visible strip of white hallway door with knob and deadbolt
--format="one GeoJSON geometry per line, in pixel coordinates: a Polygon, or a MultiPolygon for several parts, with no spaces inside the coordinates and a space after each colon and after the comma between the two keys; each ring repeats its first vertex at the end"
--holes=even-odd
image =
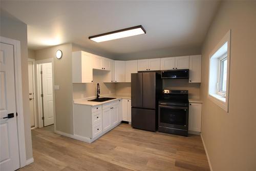
{"type": "Polygon", "coordinates": [[[29,111],[30,111],[30,126],[35,126],[35,115],[34,115],[34,86],[33,86],[33,62],[28,61],[29,71],[29,111]]]}

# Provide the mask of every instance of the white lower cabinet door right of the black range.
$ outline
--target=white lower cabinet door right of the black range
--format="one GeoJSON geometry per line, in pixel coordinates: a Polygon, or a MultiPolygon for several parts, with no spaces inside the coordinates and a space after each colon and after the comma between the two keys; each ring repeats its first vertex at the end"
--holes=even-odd
{"type": "Polygon", "coordinates": [[[202,104],[189,103],[188,130],[201,132],[202,104]]]}

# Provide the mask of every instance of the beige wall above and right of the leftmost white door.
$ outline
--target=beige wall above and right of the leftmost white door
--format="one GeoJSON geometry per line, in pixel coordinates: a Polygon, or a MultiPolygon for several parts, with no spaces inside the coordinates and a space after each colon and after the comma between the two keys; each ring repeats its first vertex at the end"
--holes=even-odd
{"type": "Polygon", "coordinates": [[[10,39],[20,41],[22,58],[22,93],[23,93],[23,112],[25,126],[25,144],[27,159],[32,158],[32,141],[30,130],[30,111],[29,111],[29,85],[28,85],[28,40],[27,25],[17,21],[16,18],[8,16],[1,10],[0,35],[10,39]]]}

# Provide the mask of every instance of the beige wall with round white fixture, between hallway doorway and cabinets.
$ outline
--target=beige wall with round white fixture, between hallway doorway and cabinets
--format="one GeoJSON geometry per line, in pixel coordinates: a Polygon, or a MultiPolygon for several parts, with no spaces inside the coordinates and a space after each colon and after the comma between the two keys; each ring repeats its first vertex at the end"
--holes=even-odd
{"type": "Polygon", "coordinates": [[[63,44],[36,50],[36,61],[54,59],[56,130],[73,134],[73,97],[72,97],[72,44],[63,44]],[[62,51],[62,58],[55,58],[57,50],[62,51]]]}

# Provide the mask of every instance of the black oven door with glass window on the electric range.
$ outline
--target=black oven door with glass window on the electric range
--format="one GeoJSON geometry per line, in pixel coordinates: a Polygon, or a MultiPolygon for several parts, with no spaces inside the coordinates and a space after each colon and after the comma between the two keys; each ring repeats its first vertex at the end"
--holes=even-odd
{"type": "Polygon", "coordinates": [[[158,124],[162,127],[188,130],[188,107],[159,105],[158,124]]]}

